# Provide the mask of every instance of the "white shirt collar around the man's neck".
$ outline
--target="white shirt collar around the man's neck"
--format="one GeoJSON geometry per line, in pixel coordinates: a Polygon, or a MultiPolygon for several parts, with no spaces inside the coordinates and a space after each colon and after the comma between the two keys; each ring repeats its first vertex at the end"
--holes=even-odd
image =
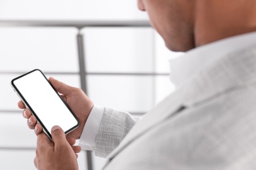
{"type": "Polygon", "coordinates": [[[170,60],[171,81],[179,87],[216,59],[253,43],[256,43],[256,32],[229,37],[194,48],[179,58],[170,60]]]}

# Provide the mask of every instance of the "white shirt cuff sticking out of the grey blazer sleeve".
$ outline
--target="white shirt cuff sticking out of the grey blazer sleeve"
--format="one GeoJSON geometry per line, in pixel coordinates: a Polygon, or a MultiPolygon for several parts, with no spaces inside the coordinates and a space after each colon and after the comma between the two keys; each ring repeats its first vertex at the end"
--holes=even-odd
{"type": "Polygon", "coordinates": [[[79,140],[79,145],[83,150],[95,150],[96,136],[98,129],[100,129],[103,113],[104,107],[98,105],[93,106],[79,140]]]}

